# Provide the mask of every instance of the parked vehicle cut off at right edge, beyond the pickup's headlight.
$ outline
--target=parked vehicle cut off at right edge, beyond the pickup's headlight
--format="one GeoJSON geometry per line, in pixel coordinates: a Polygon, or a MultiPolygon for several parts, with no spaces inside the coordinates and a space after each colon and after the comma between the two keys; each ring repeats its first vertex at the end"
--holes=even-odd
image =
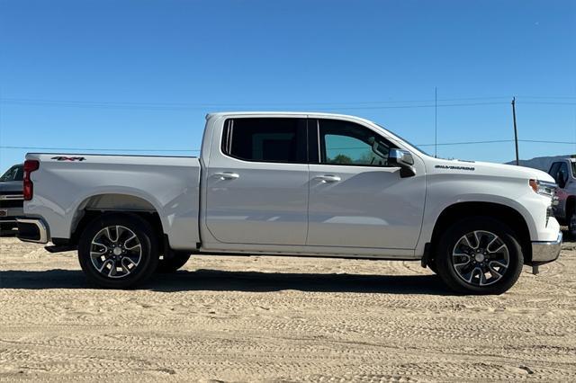
{"type": "Polygon", "coordinates": [[[550,166],[548,174],[558,184],[554,215],[576,237],[576,158],[564,158],[550,166]]]}

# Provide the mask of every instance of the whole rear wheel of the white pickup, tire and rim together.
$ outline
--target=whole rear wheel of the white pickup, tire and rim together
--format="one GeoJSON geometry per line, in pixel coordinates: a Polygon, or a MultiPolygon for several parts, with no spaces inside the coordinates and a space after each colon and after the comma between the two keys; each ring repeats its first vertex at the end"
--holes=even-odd
{"type": "Polygon", "coordinates": [[[144,219],[133,214],[104,214],[85,227],[78,241],[78,260],[88,281],[103,288],[128,289],[146,281],[156,271],[159,258],[157,248],[157,236],[144,219]],[[107,234],[106,227],[111,230],[107,234]],[[117,241],[108,241],[111,236],[112,239],[115,236],[117,241]],[[127,239],[132,236],[132,239],[127,239]],[[98,243],[93,244],[93,241],[98,243]],[[123,250],[126,254],[116,254],[116,247],[121,248],[122,241],[123,248],[119,253],[123,250]],[[112,247],[113,252],[109,252],[112,247]],[[106,251],[100,256],[98,253],[103,249],[106,251]],[[102,272],[97,267],[101,263],[102,272]],[[119,263],[121,267],[116,267],[119,263]],[[114,274],[120,270],[120,276],[111,276],[112,268],[114,274]]]}

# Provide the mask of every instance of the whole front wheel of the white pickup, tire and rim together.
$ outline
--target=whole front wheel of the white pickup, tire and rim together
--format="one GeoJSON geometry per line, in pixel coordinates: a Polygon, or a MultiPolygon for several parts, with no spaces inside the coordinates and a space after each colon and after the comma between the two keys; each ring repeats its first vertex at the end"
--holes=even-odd
{"type": "Polygon", "coordinates": [[[502,294],[518,281],[524,264],[516,234],[494,218],[473,217],[456,222],[440,238],[437,249],[437,274],[458,293],[502,294]],[[497,239],[491,242],[494,237],[497,239]],[[501,267],[504,263],[507,266],[501,267]]]}

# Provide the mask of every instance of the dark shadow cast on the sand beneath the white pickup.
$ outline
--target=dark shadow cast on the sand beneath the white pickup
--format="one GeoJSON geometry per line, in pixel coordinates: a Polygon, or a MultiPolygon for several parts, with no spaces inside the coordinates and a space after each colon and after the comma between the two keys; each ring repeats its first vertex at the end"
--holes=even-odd
{"type": "MultiPolygon", "coordinates": [[[[0,272],[0,289],[95,289],[76,270],[0,272]]],[[[174,291],[356,292],[453,295],[436,275],[310,274],[291,272],[179,271],[157,274],[139,289],[174,291]]]]}

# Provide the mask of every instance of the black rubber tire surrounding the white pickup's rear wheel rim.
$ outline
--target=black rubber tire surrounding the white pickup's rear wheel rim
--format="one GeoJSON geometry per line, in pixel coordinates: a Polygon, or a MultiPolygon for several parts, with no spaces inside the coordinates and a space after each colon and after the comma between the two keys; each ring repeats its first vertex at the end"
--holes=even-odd
{"type": "Polygon", "coordinates": [[[78,241],[78,260],[86,278],[104,288],[127,289],[145,281],[157,268],[157,241],[153,230],[142,218],[136,215],[109,214],[94,219],[85,228],[78,241]],[[142,255],[139,265],[130,275],[124,278],[108,278],[98,272],[90,257],[90,247],[94,236],[103,229],[110,226],[128,227],[136,234],[142,247],[142,255]]]}

